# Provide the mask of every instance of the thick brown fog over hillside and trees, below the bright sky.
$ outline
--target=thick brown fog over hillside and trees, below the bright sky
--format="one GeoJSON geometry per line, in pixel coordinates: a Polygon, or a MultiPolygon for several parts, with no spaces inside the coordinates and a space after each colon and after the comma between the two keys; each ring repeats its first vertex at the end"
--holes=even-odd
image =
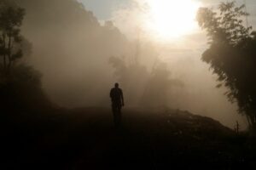
{"type": "Polygon", "coordinates": [[[217,77],[201,61],[204,34],[186,37],[192,48],[163,45],[136,30],[126,33],[119,17],[100,23],[75,0],[15,2],[26,8],[22,34],[32,43],[26,62],[42,73],[45,93],[56,105],[109,106],[109,90],[119,82],[126,107],[170,107],[246,127],[236,104],[224,96],[226,89],[216,88],[217,77]]]}

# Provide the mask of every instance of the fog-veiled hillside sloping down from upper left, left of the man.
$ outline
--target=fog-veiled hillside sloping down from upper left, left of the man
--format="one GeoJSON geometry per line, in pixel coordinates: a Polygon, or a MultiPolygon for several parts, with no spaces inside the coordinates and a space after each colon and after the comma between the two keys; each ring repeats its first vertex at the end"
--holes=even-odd
{"type": "Polygon", "coordinates": [[[77,0],[3,1],[26,9],[21,30],[32,42],[32,56],[26,58],[23,50],[19,60],[44,75],[50,99],[64,107],[108,105],[108,95],[102,94],[113,80],[106,61],[127,53],[130,43],[111,21],[101,24],[77,0]]]}

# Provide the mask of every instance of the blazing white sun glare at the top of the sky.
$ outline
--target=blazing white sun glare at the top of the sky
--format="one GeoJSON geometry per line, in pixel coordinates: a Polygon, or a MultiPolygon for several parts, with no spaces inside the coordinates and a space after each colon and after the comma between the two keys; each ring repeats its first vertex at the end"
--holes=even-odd
{"type": "Polygon", "coordinates": [[[149,34],[170,40],[195,31],[195,15],[200,4],[195,0],[146,0],[144,26],[149,34]]]}

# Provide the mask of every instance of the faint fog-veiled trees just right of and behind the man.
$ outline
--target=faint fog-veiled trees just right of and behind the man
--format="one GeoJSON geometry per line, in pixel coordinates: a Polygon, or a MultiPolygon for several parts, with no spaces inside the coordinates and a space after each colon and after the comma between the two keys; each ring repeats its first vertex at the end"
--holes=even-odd
{"type": "Polygon", "coordinates": [[[148,71],[139,62],[127,65],[125,59],[117,57],[110,58],[109,62],[115,69],[114,75],[124,84],[125,98],[133,105],[170,105],[170,92],[174,87],[183,87],[183,82],[171,77],[171,71],[166,63],[158,61],[152,71],[148,71]]]}

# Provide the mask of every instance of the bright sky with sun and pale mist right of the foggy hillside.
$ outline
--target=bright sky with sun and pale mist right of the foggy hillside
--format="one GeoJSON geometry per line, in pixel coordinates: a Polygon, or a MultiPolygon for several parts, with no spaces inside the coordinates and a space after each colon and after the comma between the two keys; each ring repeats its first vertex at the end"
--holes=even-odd
{"type": "MultiPolygon", "coordinates": [[[[224,96],[226,89],[216,88],[217,77],[212,75],[209,65],[201,61],[207,37],[197,25],[196,11],[201,6],[216,8],[221,1],[80,1],[98,16],[102,25],[104,20],[112,20],[131,41],[140,42],[142,48],[148,44],[154,47],[157,58],[169,65],[172,77],[181,78],[185,84],[185,88],[177,92],[180,95],[175,101],[176,107],[211,116],[230,127],[239,120],[246,127],[245,120],[236,112],[236,105],[231,105],[224,96]]],[[[242,3],[237,1],[238,5],[242,3]]],[[[247,3],[250,4],[248,12],[253,13],[255,4],[247,3]]],[[[253,25],[254,14],[248,20],[253,25]]],[[[147,59],[144,62],[150,63],[147,59]]]]}

